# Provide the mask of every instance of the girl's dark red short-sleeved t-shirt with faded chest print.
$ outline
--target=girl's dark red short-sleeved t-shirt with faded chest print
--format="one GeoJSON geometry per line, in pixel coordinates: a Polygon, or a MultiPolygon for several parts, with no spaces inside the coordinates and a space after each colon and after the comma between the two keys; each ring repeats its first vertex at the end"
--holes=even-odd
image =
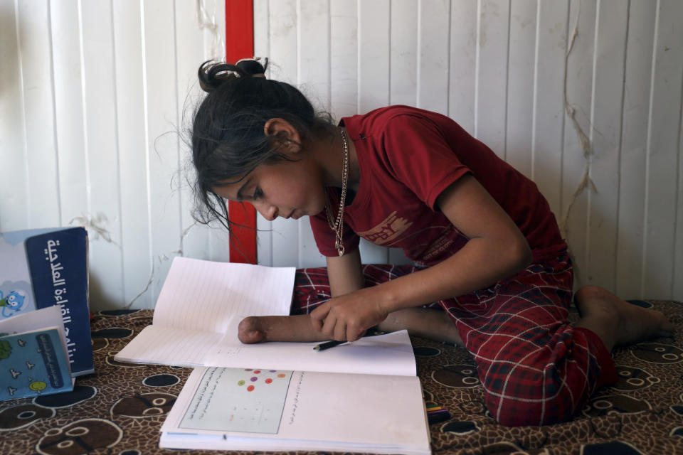
{"type": "MultiPolygon", "coordinates": [[[[340,125],[354,141],[361,172],[358,193],[344,208],[346,251],[363,237],[403,248],[406,257],[426,266],[450,257],[468,239],[435,209],[435,203],[467,173],[517,223],[535,259],[566,246],[536,184],[452,119],[415,107],[391,106],[345,117],[340,125]]],[[[328,188],[328,193],[336,216],[339,188],[328,188]]],[[[325,210],[310,220],[322,255],[337,256],[325,210]]]]}

